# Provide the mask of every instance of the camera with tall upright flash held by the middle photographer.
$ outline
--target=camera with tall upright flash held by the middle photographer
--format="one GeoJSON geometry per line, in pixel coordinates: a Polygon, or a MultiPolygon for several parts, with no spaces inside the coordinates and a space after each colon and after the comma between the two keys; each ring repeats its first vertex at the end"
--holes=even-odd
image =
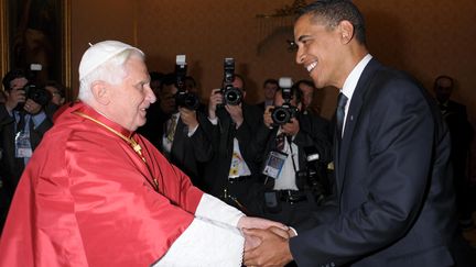
{"type": "Polygon", "coordinates": [[[232,86],[234,80],[235,59],[227,57],[224,60],[224,87],[221,88],[224,104],[238,105],[242,101],[241,90],[232,86]]]}

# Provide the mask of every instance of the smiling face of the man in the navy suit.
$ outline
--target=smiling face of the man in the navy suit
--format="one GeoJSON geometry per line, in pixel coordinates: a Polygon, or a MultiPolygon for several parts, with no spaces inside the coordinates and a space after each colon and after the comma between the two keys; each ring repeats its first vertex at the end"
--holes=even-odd
{"type": "Polygon", "coordinates": [[[294,24],[298,44],[296,63],[303,65],[317,88],[334,86],[342,88],[348,73],[346,56],[349,45],[340,23],[326,26],[323,20],[311,14],[302,15],[294,24]]]}

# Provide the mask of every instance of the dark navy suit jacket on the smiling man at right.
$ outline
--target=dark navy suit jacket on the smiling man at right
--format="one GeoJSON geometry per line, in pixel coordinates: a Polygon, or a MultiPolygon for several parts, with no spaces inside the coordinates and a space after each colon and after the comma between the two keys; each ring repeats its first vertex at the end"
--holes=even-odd
{"type": "Polygon", "coordinates": [[[432,98],[372,59],[346,120],[336,209],[316,213],[328,221],[291,238],[298,265],[451,266],[450,135],[432,98]]]}

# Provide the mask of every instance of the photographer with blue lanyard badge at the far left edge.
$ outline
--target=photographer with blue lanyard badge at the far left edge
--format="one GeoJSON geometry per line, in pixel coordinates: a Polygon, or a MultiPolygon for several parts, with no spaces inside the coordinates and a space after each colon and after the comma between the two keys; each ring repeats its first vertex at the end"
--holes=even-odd
{"type": "Polygon", "coordinates": [[[0,104],[1,169],[3,186],[11,198],[33,151],[53,123],[43,109],[50,94],[30,86],[26,73],[11,70],[2,84],[7,101],[0,104]]]}

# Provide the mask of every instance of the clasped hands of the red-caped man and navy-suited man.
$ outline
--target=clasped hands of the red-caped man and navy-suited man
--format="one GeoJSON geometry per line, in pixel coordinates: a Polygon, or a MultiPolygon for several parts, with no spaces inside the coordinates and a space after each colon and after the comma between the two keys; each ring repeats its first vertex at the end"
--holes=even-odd
{"type": "Polygon", "coordinates": [[[279,222],[244,216],[237,225],[245,236],[246,266],[284,266],[293,260],[289,240],[295,231],[279,222]]]}

